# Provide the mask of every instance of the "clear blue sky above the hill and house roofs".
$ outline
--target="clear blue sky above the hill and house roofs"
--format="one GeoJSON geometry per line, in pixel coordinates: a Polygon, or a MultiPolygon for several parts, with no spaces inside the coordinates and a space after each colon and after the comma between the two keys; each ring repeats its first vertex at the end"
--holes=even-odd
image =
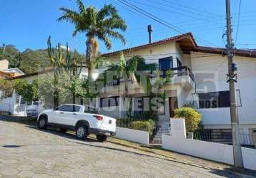
{"type": "MultiPolygon", "coordinates": [[[[127,0],[149,11],[159,19],[171,23],[182,31],[191,31],[201,46],[225,46],[222,34],[225,33],[225,0],[127,0]],[[207,43],[205,43],[207,41],[207,43]],[[211,44],[210,44],[211,43],[211,44]],[[214,45],[212,45],[212,43],[214,45]]],[[[230,0],[232,4],[233,38],[236,37],[238,7],[240,0],[230,0]]],[[[153,41],[179,33],[138,14],[117,0],[84,0],[87,6],[98,9],[104,4],[114,4],[121,16],[127,21],[127,45],[113,41],[115,51],[148,42],[147,25],[154,28],[153,41]],[[125,8],[124,8],[125,7],[125,8]],[[127,10],[129,9],[129,10],[127,10]]],[[[20,51],[26,48],[46,48],[49,35],[53,43],[69,43],[69,46],[81,53],[85,51],[85,37],[79,34],[72,37],[74,27],[70,23],[58,22],[61,6],[76,9],[75,0],[1,0],[0,6],[0,46],[2,43],[13,44],[20,51]]],[[[255,0],[242,0],[240,28],[237,36],[237,48],[256,48],[256,11],[255,0]]],[[[100,51],[107,52],[101,43],[100,51]]]]}

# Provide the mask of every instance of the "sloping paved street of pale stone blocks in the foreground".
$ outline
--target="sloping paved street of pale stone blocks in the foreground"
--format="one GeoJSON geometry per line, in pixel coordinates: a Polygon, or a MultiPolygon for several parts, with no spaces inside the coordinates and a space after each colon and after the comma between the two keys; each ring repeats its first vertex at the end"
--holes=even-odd
{"type": "MultiPolygon", "coordinates": [[[[198,159],[202,162],[202,159],[198,159]]],[[[207,162],[207,161],[205,161],[207,162]]],[[[209,163],[209,162],[208,162],[209,163]]],[[[215,163],[216,165],[216,163],[215,163]]],[[[240,177],[230,170],[0,119],[0,177],[240,177]]]]}

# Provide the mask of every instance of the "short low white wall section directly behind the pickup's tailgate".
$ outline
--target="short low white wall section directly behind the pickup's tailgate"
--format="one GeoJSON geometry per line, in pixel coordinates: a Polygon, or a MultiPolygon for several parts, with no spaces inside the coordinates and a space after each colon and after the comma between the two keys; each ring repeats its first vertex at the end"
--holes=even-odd
{"type": "Polygon", "coordinates": [[[149,132],[117,127],[115,137],[123,140],[142,143],[144,145],[149,145],[149,132]]]}

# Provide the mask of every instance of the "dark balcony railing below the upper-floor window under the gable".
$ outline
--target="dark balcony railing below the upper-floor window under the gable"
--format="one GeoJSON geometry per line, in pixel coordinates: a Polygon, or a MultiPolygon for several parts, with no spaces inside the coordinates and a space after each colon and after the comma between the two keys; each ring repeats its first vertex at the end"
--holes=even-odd
{"type": "Polygon", "coordinates": [[[167,70],[161,70],[160,76],[165,78],[167,76],[167,71],[171,70],[172,75],[185,76],[188,75],[193,81],[195,81],[195,75],[187,66],[182,66],[179,68],[169,68],[167,70]]]}

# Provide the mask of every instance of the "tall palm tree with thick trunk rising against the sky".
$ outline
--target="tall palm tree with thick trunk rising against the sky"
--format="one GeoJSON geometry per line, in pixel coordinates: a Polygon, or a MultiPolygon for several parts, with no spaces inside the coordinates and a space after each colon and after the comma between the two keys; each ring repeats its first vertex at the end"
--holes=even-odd
{"type": "Polygon", "coordinates": [[[97,39],[103,41],[107,49],[112,48],[111,38],[119,39],[125,44],[124,36],[119,31],[125,31],[127,25],[112,4],[104,5],[99,11],[93,6],[85,7],[82,0],[77,0],[77,6],[79,11],[61,8],[63,15],[57,21],[73,23],[73,36],[76,36],[77,33],[85,33],[87,37],[86,65],[88,80],[90,80],[93,63],[98,55],[99,43],[97,39]]]}

